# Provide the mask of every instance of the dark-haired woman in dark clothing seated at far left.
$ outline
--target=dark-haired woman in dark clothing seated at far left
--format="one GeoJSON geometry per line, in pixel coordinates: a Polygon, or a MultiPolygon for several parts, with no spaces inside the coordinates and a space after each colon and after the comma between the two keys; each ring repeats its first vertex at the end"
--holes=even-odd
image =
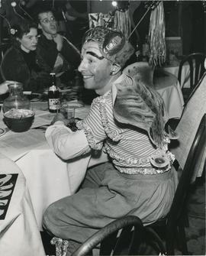
{"type": "Polygon", "coordinates": [[[13,44],[2,58],[3,80],[23,83],[25,91],[43,92],[50,78],[37,63],[37,25],[21,20],[11,28],[13,44]]]}

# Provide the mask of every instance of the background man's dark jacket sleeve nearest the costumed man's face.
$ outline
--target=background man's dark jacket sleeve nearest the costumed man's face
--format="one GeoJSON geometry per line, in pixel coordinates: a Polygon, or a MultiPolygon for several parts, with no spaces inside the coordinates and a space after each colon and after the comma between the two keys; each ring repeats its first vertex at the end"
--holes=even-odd
{"type": "Polygon", "coordinates": [[[63,48],[61,53],[68,63],[76,69],[81,62],[79,50],[71,42],[69,42],[66,37],[63,38],[63,48]]]}

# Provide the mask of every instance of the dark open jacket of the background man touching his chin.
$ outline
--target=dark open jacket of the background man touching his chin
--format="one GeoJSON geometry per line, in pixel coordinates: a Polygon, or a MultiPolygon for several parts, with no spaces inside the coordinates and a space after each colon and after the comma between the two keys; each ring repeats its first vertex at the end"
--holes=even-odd
{"type": "MultiPolygon", "coordinates": [[[[53,40],[48,40],[47,37],[41,34],[37,44],[37,59],[40,66],[47,66],[52,71],[58,53],[56,43],[53,40]]],[[[68,66],[69,64],[71,69],[76,69],[79,66],[81,61],[79,50],[66,37],[63,39],[63,48],[60,54],[64,58],[64,66],[68,66]]]]}

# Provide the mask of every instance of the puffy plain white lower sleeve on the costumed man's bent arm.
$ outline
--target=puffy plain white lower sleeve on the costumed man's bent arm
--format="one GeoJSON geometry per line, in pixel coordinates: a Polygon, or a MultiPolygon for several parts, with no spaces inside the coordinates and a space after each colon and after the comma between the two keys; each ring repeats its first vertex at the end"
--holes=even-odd
{"type": "Polygon", "coordinates": [[[45,133],[48,144],[63,159],[72,159],[89,152],[84,131],[73,132],[63,122],[55,122],[45,133]]]}

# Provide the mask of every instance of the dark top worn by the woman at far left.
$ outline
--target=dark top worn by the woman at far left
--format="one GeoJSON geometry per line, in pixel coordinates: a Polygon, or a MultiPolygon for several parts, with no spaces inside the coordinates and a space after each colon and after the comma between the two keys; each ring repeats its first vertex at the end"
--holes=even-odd
{"type": "Polygon", "coordinates": [[[18,47],[11,47],[6,51],[1,63],[1,74],[4,80],[23,83],[24,91],[43,92],[50,85],[49,73],[41,69],[37,63],[34,69],[30,70],[22,50],[18,47]]]}

